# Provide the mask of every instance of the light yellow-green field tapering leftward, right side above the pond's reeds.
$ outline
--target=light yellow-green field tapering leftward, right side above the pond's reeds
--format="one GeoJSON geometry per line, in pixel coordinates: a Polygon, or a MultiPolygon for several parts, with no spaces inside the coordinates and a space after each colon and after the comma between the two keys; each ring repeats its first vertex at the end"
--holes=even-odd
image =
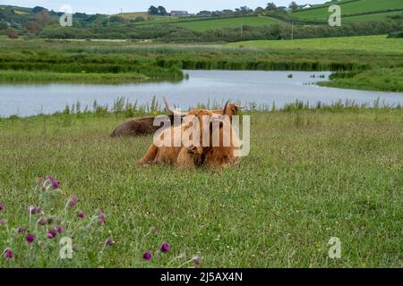
{"type": "Polygon", "coordinates": [[[309,38],[282,41],[246,41],[228,44],[229,46],[246,46],[273,49],[297,50],[363,50],[382,53],[402,53],[403,40],[386,38],[386,36],[361,36],[340,38],[309,38]]]}

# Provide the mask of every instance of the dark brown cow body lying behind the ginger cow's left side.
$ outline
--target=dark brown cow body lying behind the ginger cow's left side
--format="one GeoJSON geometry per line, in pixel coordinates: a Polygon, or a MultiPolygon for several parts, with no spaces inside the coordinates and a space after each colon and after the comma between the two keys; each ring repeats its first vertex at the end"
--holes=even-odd
{"type": "MultiPolygon", "coordinates": [[[[112,132],[110,137],[122,137],[122,136],[145,136],[154,134],[159,130],[160,126],[154,126],[155,117],[146,117],[140,119],[132,119],[116,127],[116,130],[112,132]]],[[[167,122],[174,124],[174,115],[168,115],[167,122]]]]}

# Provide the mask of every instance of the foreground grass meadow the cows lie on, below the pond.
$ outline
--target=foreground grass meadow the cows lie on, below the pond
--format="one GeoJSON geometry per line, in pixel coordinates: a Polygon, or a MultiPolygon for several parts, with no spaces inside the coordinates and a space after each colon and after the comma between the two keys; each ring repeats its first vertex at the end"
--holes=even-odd
{"type": "Polygon", "coordinates": [[[135,167],[152,139],[109,139],[124,121],[112,114],[2,119],[0,252],[13,249],[13,259],[0,267],[187,267],[193,256],[201,267],[402,267],[402,115],[253,113],[251,154],[220,173],[135,167]],[[72,225],[79,210],[107,214],[99,230],[74,232],[72,260],[56,259],[68,229],[48,240],[39,226],[32,244],[7,234],[27,227],[28,206],[39,205],[33,186],[47,174],[61,182],[52,198],[79,198],[72,225]],[[341,259],[328,257],[331,237],[341,259]],[[157,254],[163,242],[171,250],[157,254]]]}

